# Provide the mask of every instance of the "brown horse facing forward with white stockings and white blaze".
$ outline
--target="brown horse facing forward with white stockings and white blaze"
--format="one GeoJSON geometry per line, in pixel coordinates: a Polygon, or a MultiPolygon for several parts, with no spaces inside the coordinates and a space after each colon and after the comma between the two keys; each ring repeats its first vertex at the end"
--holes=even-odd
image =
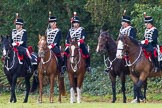
{"type": "Polygon", "coordinates": [[[69,46],[70,56],[67,60],[67,71],[70,81],[70,103],[76,102],[75,93],[77,93],[77,103],[81,102],[81,87],[86,72],[85,59],[82,57],[78,41],[71,40],[69,46]]]}

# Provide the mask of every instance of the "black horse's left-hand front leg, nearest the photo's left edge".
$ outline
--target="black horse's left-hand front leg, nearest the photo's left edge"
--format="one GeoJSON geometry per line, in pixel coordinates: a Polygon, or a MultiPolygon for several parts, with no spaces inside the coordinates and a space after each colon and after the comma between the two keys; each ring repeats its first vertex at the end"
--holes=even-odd
{"type": "Polygon", "coordinates": [[[11,86],[11,98],[10,98],[10,102],[14,102],[16,103],[17,99],[16,99],[16,95],[15,95],[15,86],[16,86],[16,82],[17,82],[17,75],[13,75],[12,77],[12,86],[11,86]]]}

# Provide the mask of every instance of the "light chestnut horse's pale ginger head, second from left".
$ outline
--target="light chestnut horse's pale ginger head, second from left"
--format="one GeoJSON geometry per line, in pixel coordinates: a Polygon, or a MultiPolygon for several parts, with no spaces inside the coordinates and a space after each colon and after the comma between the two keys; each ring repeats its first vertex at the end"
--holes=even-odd
{"type": "Polygon", "coordinates": [[[48,50],[48,47],[47,47],[46,36],[39,35],[38,57],[44,58],[47,50],[48,50]]]}

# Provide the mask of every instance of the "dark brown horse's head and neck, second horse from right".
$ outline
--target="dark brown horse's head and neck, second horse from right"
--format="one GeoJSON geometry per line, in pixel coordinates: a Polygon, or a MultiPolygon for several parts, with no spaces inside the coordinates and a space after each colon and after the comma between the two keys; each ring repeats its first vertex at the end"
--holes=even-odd
{"type": "Polygon", "coordinates": [[[101,32],[100,36],[98,37],[96,52],[105,53],[106,51],[113,49],[116,50],[115,41],[112,39],[108,32],[101,32]]]}

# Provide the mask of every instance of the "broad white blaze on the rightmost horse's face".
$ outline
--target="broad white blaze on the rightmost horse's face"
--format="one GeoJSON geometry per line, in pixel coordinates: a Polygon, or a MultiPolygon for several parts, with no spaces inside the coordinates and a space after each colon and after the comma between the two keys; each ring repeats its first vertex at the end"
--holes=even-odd
{"type": "Polygon", "coordinates": [[[123,55],[123,42],[121,40],[118,41],[118,46],[117,46],[117,52],[116,52],[116,57],[121,59],[123,55]]]}

